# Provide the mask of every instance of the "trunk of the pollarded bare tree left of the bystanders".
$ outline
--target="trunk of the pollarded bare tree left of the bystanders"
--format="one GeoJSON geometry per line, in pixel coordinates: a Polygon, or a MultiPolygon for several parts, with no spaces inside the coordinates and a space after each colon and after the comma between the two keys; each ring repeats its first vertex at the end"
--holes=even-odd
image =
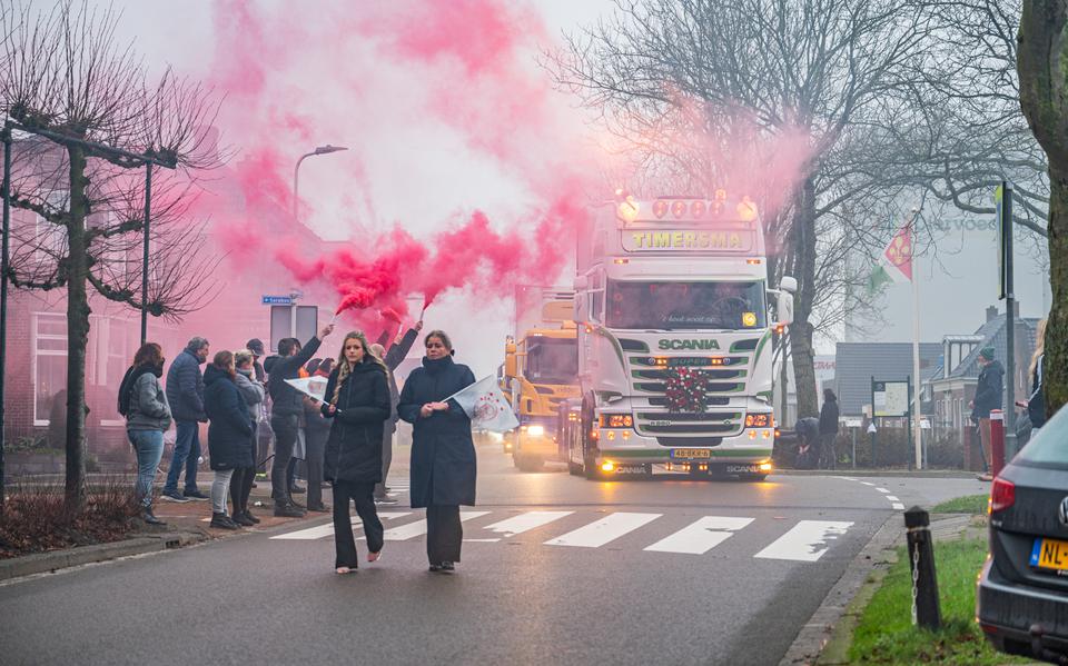
{"type": "Polygon", "coordinates": [[[86,156],[69,147],[70,220],[67,264],[67,495],[68,515],[86,504],[86,347],[89,341],[89,298],[86,292],[89,252],[86,246],[86,156]]]}

